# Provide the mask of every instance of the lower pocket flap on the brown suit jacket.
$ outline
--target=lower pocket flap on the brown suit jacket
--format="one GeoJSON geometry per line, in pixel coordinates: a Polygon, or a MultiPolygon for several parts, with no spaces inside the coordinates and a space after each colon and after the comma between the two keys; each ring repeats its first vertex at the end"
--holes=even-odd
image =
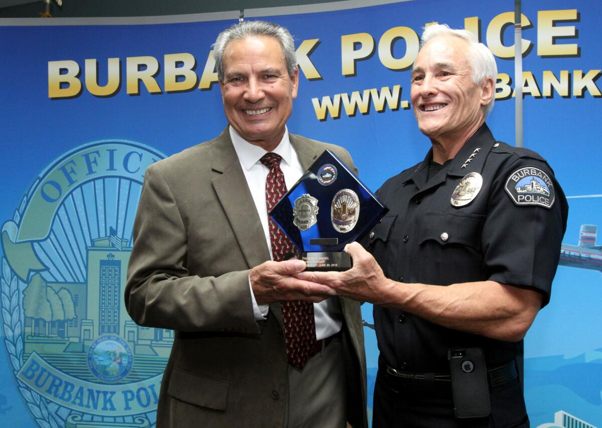
{"type": "Polygon", "coordinates": [[[214,410],[226,410],[229,382],[173,370],[167,393],[175,399],[214,410]]]}

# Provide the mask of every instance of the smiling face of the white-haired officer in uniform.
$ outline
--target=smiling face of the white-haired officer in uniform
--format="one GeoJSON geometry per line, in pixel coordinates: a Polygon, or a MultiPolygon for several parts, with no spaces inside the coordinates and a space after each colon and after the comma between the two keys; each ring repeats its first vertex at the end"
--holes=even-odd
{"type": "Polygon", "coordinates": [[[436,36],[414,63],[411,100],[418,128],[442,144],[464,142],[485,121],[492,88],[474,83],[468,49],[460,37],[436,36]]]}

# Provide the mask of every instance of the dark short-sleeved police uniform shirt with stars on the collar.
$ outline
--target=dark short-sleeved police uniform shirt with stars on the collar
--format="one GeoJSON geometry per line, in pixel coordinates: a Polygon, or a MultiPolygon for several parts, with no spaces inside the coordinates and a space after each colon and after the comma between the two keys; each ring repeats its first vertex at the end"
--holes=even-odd
{"type": "MultiPolygon", "coordinates": [[[[377,191],[390,211],[370,234],[368,249],[386,277],[441,286],[492,280],[532,288],[546,305],[568,205],[544,158],[495,141],[483,124],[428,179],[431,160],[432,149],[424,161],[377,191]],[[514,191],[510,177],[524,167],[550,178],[543,205],[517,204],[504,188],[514,191]],[[453,206],[452,194],[470,172],[482,176],[482,188],[467,205],[453,206]]],[[[399,309],[375,305],[374,321],[380,357],[398,370],[446,373],[447,350],[455,346],[482,347],[488,368],[506,364],[518,353],[518,343],[447,329],[399,309]]]]}

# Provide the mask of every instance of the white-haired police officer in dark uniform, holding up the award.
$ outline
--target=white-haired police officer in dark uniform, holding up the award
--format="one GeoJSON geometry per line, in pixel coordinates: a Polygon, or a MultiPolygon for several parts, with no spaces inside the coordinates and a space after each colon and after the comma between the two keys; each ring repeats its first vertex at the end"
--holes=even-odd
{"type": "Polygon", "coordinates": [[[377,192],[390,211],[370,253],[349,244],[351,270],[302,274],[374,303],[375,428],[529,426],[516,359],[550,299],[568,206],[544,158],[485,124],[496,76],[471,33],[425,29],[411,99],[432,149],[377,192]]]}

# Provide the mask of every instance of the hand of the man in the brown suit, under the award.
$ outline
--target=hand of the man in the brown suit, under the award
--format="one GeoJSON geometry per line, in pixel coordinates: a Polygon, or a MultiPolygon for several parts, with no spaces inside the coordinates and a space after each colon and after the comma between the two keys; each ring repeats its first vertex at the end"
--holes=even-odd
{"type": "Polygon", "coordinates": [[[318,303],[337,293],[327,285],[317,284],[293,275],[305,269],[302,260],[267,261],[251,269],[249,279],[258,305],[287,300],[318,303]]]}

